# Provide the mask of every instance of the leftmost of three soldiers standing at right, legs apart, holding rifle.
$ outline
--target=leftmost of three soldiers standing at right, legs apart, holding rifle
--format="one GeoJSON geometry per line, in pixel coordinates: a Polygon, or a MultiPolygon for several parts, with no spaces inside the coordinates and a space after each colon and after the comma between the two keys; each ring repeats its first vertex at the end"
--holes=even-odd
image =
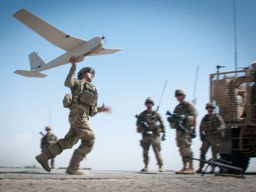
{"type": "Polygon", "coordinates": [[[153,100],[151,98],[147,98],[145,101],[145,106],[147,106],[147,109],[140,113],[139,117],[137,117],[137,132],[142,133],[142,140],[140,140],[140,145],[143,148],[143,159],[145,164],[145,167],[141,170],[142,172],[148,171],[148,150],[150,148],[150,144],[152,145],[156,155],[159,172],[163,172],[163,159],[160,154],[161,146],[159,141],[159,133],[163,133],[161,140],[164,141],[165,129],[160,114],[158,114],[156,111],[153,111],[153,105],[153,100]],[[143,127],[142,123],[147,125],[147,127],[143,127]]]}

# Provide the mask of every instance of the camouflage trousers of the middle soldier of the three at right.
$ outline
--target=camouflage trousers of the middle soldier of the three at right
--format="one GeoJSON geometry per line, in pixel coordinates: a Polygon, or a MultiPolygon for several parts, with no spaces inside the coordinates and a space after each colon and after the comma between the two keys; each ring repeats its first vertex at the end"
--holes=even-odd
{"type": "Polygon", "coordinates": [[[183,133],[182,131],[176,130],[176,141],[182,157],[193,157],[193,152],[190,149],[192,140],[189,133],[183,133]]]}

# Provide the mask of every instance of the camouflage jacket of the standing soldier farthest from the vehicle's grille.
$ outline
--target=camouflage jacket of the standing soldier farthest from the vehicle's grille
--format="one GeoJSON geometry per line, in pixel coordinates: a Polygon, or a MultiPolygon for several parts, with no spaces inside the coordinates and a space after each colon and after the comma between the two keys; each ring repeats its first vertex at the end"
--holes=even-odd
{"type": "MultiPolygon", "coordinates": [[[[147,110],[140,113],[139,117],[146,123],[148,123],[148,130],[153,130],[155,133],[165,133],[165,128],[163,120],[161,119],[160,114],[156,111],[148,112],[147,110]]],[[[139,121],[137,120],[137,132],[143,133],[143,128],[140,126],[139,121]]]]}

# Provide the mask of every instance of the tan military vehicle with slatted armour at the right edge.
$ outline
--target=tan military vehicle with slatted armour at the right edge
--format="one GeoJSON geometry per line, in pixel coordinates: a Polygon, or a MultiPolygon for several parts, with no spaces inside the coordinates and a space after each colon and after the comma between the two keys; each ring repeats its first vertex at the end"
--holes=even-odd
{"type": "Polygon", "coordinates": [[[243,70],[210,74],[210,101],[226,123],[221,159],[245,171],[256,157],[256,61],[243,70]]]}

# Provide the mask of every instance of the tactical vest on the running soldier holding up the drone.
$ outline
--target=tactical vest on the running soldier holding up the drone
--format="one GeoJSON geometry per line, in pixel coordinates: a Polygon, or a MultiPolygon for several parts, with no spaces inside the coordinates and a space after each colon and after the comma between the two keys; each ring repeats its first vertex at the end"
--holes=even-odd
{"type": "Polygon", "coordinates": [[[72,104],[87,104],[88,106],[96,106],[98,101],[98,93],[94,85],[87,81],[81,81],[72,89],[72,104]]]}

